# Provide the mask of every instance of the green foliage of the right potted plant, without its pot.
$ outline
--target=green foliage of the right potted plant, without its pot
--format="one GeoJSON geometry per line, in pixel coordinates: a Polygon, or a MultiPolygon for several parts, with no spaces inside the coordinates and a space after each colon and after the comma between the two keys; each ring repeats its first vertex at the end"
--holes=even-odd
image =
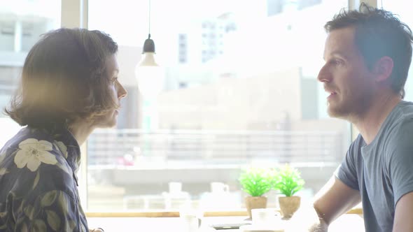
{"type": "Polygon", "coordinates": [[[275,178],[274,189],[279,190],[281,194],[286,196],[294,196],[294,194],[304,186],[301,173],[288,164],[279,168],[279,171],[276,171],[275,178]]]}

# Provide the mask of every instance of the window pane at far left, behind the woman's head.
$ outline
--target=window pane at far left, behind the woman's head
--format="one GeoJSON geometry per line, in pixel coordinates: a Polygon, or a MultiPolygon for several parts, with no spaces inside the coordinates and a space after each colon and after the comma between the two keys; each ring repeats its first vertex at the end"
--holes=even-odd
{"type": "MultiPolygon", "coordinates": [[[[41,34],[59,27],[60,1],[0,1],[0,16],[0,108],[3,110],[18,86],[27,52],[41,34]]],[[[0,114],[0,128],[3,147],[20,126],[0,114]]]]}

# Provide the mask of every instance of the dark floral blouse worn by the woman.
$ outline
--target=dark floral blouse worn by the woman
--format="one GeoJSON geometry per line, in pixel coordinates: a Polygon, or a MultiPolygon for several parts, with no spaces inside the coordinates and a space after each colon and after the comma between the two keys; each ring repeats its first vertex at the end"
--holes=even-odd
{"type": "Polygon", "coordinates": [[[0,232],[88,231],[79,164],[80,148],[68,130],[20,130],[0,150],[0,232]]]}

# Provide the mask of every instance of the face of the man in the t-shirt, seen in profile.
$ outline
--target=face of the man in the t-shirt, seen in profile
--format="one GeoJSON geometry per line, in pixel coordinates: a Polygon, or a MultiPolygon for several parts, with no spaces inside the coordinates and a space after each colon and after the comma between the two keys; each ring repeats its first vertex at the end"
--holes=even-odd
{"type": "Polygon", "coordinates": [[[354,43],[353,27],[330,31],[325,41],[325,64],[318,73],[328,92],[328,114],[352,119],[369,108],[374,78],[354,43]]]}

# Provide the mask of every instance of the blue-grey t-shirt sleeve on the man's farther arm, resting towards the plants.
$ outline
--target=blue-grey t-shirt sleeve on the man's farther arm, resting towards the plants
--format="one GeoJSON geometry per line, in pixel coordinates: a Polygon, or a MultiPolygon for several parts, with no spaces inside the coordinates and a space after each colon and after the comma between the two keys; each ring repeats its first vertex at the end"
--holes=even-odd
{"type": "Polygon", "coordinates": [[[360,191],[360,188],[358,187],[356,157],[358,151],[360,150],[359,144],[361,140],[362,138],[359,135],[358,138],[351,143],[342,164],[340,164],[335,171],[335,177],[341,180],[348,187],[351,187],[351,189],[356,189],[358,191],[360,191]]]}

